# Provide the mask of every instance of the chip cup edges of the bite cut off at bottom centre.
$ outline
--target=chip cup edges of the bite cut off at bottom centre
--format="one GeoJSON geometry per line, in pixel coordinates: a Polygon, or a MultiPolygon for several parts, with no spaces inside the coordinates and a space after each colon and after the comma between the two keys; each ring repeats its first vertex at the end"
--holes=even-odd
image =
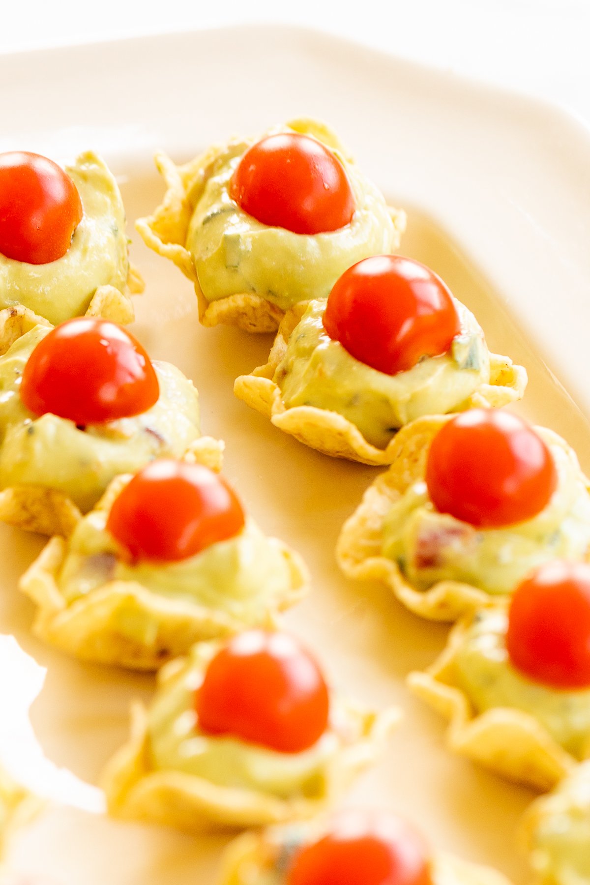
{"type": "MultiPolygon", "coordinates": [[[[272,873],[281,860],[281,843],[288,844],[290,836],[288,827],[237,836],[224,853],[218,885],[257,885],[265,881],[264,875],[272,873]]],[[[510,885],[491,866],[471,864],[442,852],[433,856],[431,880],[433,885],[510,885]]]]}

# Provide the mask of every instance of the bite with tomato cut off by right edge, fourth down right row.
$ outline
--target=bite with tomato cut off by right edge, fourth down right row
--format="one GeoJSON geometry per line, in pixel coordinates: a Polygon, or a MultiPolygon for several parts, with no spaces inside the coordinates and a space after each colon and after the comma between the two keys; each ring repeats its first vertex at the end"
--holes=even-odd
{"type": "Polygon", "coordinates": [[[540,566],[510,608],[460,621],[409,684],[450,720],[452,750],[550,789],[590,757],[590,565],[540,566]]]}

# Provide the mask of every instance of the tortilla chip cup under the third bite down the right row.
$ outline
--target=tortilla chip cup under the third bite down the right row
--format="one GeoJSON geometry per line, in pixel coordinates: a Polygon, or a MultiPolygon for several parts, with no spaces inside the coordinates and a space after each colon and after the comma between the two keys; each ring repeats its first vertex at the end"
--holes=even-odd
{"type": "MultiPolygon", "coordinates": [[[[400,602],[421,618],[452,621],[475,608],[495,604],[499,596],[462,581],[439,581],[427,590],[415,588],[393,559],[384,557],[383,524],[392,504],[425,477],[426,457],[433,437],[452,415],[433,415],[402,427],[391,443],[392,464],[366,490],[361,504],[344,523],[336,543],[343,573],[356,581],[382,581],[400,602]]],[[[552,431],[543,434],[557,445],[570,447],[552,431]]],[[[584,478],[586,488],[588,481],[584,478]]],[[[589,489],[590,490],[590,489],[589,489]]]]}

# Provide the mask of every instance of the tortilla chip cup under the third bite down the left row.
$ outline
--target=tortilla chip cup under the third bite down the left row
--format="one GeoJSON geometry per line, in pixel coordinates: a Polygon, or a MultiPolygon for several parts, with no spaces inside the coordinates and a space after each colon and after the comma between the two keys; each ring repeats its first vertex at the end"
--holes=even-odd
{"type": "MultiPolygon", "coordinates": [[[[129,479],[118,476],[113,480],[96,509],[110,510],[129,479]]],[[[275,543],[287,563],[290,587],[272,606],[261,605],[259,627],[275,627],[278,612],[298,603],[309,591],[303,559],[286,544],[275,543]]],[[[196,601],[154,593],[137,581],[106,581],[67,604],[57,583],[67,552],[65,538],[51,538],[21,577],[19,589],[37,605],[34,634],[75,658],[157,670],[165,661],[185,654],[193,643],[225,638],[251,626],[250,621],[196,601]]]]}

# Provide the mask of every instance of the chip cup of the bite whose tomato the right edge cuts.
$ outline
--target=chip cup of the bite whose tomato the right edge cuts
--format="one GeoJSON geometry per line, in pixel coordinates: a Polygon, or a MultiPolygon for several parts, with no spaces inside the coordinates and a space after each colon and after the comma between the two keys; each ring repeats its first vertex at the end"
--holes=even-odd
{"type": "Polygon", "coordinates": [[[470,614],[451,630],[441,656],[424,672],[410,673],[408,685],[448,720],[448,749],[501,774],[509,781],[542,791],[551,789],[577,760],[563,750],[539,720],[509,707],[477,713],[454,676],[456,650],[471,625],[470,614]]]}

